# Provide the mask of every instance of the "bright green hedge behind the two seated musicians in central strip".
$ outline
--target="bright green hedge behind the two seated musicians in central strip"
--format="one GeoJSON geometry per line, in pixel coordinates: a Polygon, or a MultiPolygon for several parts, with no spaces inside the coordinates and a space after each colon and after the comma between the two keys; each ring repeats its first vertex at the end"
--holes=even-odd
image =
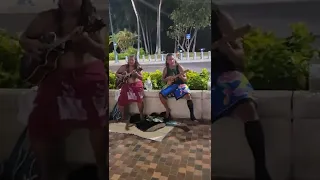
{"type": "MultiPolygon", "coordinates": [[[[148,77],[152,81],[152,87],[155,90],[162,89],[165,86],[165,83],[162,81],[162,72],[156,70],[155,72],[143,72],[142,80],[145,82],[148,77]]],[[[190,71],[187,72],[188,86],[191,90],[207,90],[208,89],[208,80],[210,74],[207,69],[202,69],[200,73],[190,71]]],[[[116,75],[114,72],[109,72],[109,89],[115,89],[116,75]]]]}

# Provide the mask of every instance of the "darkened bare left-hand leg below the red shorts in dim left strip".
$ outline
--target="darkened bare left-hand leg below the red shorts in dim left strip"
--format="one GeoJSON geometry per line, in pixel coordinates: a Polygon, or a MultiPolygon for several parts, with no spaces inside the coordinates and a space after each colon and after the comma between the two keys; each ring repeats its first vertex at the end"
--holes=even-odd
{"type": "Polygon", "coordinates": [[[64,140],[32,139],[41,180],[67,180],[64,140]]]}

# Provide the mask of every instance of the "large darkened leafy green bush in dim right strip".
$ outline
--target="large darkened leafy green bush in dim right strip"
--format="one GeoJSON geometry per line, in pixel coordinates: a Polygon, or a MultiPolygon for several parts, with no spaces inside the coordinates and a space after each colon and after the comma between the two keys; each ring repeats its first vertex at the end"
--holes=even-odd
{"type": "Polygon", "coordinates": [[[259,29],[245,36],[246,74],[255,89],[307,89],[315,38],[304,24],[291,28],[288,38],[259,29]]]}

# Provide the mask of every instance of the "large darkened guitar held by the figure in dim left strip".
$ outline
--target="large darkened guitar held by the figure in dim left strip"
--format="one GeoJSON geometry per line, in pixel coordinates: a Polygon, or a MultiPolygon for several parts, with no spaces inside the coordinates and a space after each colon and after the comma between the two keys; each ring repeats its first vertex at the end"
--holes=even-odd
{"type": "MultiPolygon", "coordinates": [[[[96,20],[95,23],[84,30],[91,33],[100,30],[105,26],[105,23],[96,20]]],[[[44,43],[44,50],[37,57],[25,53],[20,59],[20,78],[32,85],[38,85],[45,77],[58,66],[58,60],[64,53],[64,44],[72,37],[72,33],[57,39],[54,32],[50,32],[39,38],[39,41],[44,43]]]]}

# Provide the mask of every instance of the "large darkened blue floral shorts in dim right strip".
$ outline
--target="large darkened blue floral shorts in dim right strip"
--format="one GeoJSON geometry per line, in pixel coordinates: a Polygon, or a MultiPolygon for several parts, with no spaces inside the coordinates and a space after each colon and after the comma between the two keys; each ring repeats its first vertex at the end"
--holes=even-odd
{"type": "Polygon", "coordinates": [[[212,121],[229,115],[240,103],[253,100],[253,87],[246,76],[239,71],[212,75],[211,90],[212,121]]]}

